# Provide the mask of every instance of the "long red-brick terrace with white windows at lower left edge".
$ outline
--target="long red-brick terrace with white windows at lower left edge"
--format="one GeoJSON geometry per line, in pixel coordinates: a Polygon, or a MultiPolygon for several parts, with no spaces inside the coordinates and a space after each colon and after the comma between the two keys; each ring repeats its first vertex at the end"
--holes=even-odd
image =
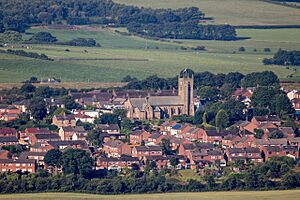
{"type": "Polygon", "coordinates": [[[36,161],[29,159],[0,159],[0,172],[36,172],[36,161]]]}

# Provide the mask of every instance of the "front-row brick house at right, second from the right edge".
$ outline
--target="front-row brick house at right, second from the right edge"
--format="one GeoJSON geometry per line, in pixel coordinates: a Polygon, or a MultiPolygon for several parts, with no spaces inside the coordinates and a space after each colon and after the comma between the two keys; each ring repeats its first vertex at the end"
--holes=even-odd
{"type": "Polygon", "coordinates": [[[254,163],[263,162],[261,151],[259,148],[229,148],[226,149],[226,161],[232,162],[235,160],[250,160],[254,163]]]}

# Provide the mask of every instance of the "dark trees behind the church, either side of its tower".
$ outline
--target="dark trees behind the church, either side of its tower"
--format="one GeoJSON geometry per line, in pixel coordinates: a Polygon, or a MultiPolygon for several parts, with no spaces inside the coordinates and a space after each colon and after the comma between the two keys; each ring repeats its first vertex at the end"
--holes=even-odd
{"type": "MultiPolygon", "coordinates": [[[[137,90],[157,90],[157,89],[177,89],[178,77],[160,78],[157,75],[149,76],[144,80],[138,80],[135,77],[126,76],[123,82],[129,82],[125,89],[137,90]]],[[[230,86],[227,89],[234,90],[238,87],[256,87],[256,86],[279,86],[279,79],[274,72],[252,72],[242,74],[240,72],[230,72],[228,74],[213,74],[211,72],[200,72],[194,74],[194,89],[210,86],[218,87],[230,86]]]]}

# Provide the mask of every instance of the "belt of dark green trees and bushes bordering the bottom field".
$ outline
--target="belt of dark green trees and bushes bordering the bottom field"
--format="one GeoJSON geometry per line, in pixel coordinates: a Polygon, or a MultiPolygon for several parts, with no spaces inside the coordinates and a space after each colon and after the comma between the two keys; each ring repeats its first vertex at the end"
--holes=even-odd
{"type": "MultiPolygon", "coordinates": [[[[69,156],[76,156],[82,150],[73,151],[77,152],[69,156]]],[[[81,156],[85,157],[84,154],[81,156]]],[[[78,160],[82,160],[82,158],[78,160]]],[[[37,174],[0,173],[0,193],[51,191],[130,194],[276,190],[300,187],[300,175],[294,170],[297,167],[297,162],[286,157],[275,157],[266,163],[255,166],[249,165],[249,169],[238,173],[230,173],[230,170],[221,169],[219,171],[222,174],[220,179],[218,179],[218,175],[207,170],[203,176],[203,182],[195,179],[182,181],[178,178],[176,171],[170,169],[157,170],[153,162],[147,164],[143,172],[133,167],[121,172],[122,175],[115,170],[91,170],[89,176],[83,176],[75,172],[78,168],[84,169],[87,165],[91,167],[91,162],[84,163],[82,161],[80,162],[82,166],[77,166],[76,169],[73,168],[76,165],[73,161],[69,160],[68,162],[71,171],[64,170],[63,174],[58,175],[49,174],[44,170],[40,170],[37,174]]]]}

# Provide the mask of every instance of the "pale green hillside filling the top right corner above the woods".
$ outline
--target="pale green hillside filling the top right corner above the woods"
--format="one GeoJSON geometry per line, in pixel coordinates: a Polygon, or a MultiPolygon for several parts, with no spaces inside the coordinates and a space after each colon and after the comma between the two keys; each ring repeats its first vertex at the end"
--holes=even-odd
{"type": "Polygon", "coordinates": [[[300,24],[300,9],[261,0],[114,0],[118,3],[152,8],[199,7],[215,23],[232,25],[300,24]]]}

